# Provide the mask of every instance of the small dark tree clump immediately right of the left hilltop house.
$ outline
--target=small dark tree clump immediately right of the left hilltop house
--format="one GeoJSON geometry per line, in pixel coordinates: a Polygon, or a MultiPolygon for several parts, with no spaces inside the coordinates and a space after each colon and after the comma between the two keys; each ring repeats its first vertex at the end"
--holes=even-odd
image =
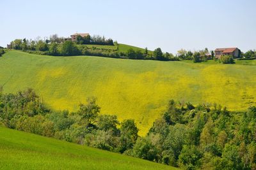
{"type": "Polygon", "coordinates": [[[76,38],[76,43],[79,45],[114,45],[113,39],[106,39],[104,36],[85,36],[80,35],[76,38]]]}

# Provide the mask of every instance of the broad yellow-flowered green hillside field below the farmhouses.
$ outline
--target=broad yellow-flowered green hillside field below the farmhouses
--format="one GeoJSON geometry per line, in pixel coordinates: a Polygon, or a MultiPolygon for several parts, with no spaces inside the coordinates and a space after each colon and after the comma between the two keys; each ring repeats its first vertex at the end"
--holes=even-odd
{"type": "Polygon", "coordinates": [[[245,110],[256,102],[255,61],[195,64],[103,57],[50,57],[10,51],[0,57],[4,92],[32,87],[55,109],[77,110],[96,96],[101,113],[134,118],[146,134],[168,100],[220,103],[245,110]]]}

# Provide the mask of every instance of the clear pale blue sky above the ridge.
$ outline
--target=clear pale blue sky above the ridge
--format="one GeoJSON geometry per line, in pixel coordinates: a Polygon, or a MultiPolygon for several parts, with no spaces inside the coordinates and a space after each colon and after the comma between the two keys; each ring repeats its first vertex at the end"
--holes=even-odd
{"type": "Polygon", "coordinates": [[[256,48],[255,0],[1,0],[0,16],[0,46],[15,38],[89,32],[172,53],[256,48]]]}

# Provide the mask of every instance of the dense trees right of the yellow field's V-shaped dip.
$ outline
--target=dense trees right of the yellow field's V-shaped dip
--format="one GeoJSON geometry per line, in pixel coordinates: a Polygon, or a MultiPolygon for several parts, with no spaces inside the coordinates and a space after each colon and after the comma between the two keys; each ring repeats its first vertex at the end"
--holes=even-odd
{"type": "Polygon", "coordinates": [[[255,120],[255,106],[230,112],[172,100],[131,155],[182,169],[255,169],[255,120]]]}

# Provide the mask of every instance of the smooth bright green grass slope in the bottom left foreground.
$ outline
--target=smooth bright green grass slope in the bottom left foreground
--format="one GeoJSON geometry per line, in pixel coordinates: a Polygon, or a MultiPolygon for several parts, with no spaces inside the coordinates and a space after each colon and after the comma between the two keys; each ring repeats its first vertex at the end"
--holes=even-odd
{"type": "Polygon", "coordinates": [[[0,169],[176,169],[0,127],[0,169]]]}

